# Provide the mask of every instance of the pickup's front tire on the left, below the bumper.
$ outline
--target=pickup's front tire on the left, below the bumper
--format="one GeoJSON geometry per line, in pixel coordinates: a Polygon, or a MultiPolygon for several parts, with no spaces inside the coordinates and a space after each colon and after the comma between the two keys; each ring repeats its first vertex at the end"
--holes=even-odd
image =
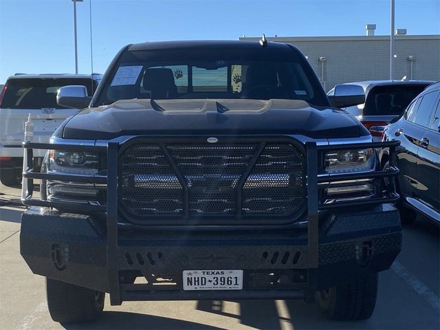
{"type": "Polygon", "coordinates": [[[104,292],[46,278],[47,306],[60,323],[92,322],[104,309],[104,292]]]}

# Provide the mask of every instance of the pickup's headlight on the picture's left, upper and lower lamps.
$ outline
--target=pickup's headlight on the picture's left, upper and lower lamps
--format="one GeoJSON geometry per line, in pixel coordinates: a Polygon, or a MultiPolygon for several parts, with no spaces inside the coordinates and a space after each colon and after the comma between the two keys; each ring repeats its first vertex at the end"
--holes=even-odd
{"type": "MultiPolygon", "coordinates": [[[[83,151],[50,150],[47,173],[70,175],[95,175],[100,169],[100,155],[83,151]]],[[[94,184],[48,180],[47,199],[98,200],[99,190],[94,184]]]]}

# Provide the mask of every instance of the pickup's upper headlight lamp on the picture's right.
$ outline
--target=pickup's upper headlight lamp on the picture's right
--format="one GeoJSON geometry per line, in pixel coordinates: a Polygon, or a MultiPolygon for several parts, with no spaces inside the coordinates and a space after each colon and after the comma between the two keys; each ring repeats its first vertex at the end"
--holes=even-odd
{"type": "Polygon", "coordinates": [[[329,174],[366,172],[374,170],[373,149],[329,151],[325,155],[325,171],[329,174]]]}

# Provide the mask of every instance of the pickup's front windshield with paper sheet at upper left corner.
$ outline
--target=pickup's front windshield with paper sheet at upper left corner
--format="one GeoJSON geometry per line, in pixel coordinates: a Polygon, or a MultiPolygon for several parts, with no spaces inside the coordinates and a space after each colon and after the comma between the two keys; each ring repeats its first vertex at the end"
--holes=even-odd
{"type": "MultiPolygon", "coordinates": [[[[121,99],[251,98],[305,100],[327,105],[322,87],[298,56],[257,59],[223,56],[169,60],[148,51],[126,52],[100,92],[97,104],[121,99]],[[287,60],[287,61],[286,61],[287,60]]],[[[177,56],[175,56],[177,58],[177,56]]],[[[187,56],[188,57],[188,56],[187,56]]],[[[204,56],[203,56],[204,57],[204,56]]],[[[209,56],[208,56],[209,57],[209,56]]]]}

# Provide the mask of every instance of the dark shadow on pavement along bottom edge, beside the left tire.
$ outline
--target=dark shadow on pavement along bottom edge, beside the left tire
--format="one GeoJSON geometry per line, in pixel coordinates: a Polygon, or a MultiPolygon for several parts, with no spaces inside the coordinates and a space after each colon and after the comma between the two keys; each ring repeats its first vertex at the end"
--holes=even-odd
{"type": "Polygon", "coordinates": [[[146,314],[129,313],[124,311],[104,311],[95,323],[85,325],[62,325],[67,330],[93,329],[223,329],[202,325],[185,320],[150,316],[146,314]]]}

